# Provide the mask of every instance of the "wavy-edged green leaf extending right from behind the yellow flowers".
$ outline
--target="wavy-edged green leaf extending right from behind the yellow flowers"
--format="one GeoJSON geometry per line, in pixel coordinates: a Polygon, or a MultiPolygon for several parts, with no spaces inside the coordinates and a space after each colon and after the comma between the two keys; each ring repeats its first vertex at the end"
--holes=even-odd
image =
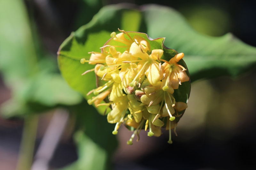
{"type": "Polygon", "coordinates": [[[256,48],[231,33],[221,37],[202,35],[194,31],[179,12],[163,6],[146,5],[142,13],[148,35],[166,37],[167,47],[185,54],[191,81],[237,76],[255,66],[256,48]]]}

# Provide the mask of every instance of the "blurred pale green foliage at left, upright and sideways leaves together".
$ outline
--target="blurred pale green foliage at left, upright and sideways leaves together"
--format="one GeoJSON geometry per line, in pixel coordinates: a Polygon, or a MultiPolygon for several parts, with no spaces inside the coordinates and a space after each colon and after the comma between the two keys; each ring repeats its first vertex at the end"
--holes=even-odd
{"type": "Polygon", "coordinates": [[[81,95],[56,73],[57,62],[36,49],[22,1],[0,2],[0,25],[0,70],[12,90],[12,99],[1,106],[3,116],[20,116],[82,101],[81,95]],[[44,58],[39,60],[39,55],[44,58]]]}

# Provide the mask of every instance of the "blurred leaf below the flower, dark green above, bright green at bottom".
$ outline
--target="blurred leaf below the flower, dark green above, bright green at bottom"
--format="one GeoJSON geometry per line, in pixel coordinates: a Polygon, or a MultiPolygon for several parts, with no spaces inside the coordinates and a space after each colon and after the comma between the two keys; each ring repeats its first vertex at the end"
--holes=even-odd
{"type": "Polygon", "coordinates": [[[86,101],[70,107],[71,116],[76,118],[74,140],[77,145],[78,160],[63,170],[112,169],[111,156],[116,147],[116,136],[112,134],[113,124],[86,101]]]}

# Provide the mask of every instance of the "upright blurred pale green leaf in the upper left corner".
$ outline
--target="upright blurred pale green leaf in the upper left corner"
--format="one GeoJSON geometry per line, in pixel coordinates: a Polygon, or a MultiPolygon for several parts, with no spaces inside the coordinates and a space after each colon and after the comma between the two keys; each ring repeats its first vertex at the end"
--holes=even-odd
{"type": "Polygon", "coordinates": [[[37,58],[22,1],[0,2],[0,69],[10,85],[35,75],[37,58]],[[13,15],[15,13],[15,15],[13,15]]]}

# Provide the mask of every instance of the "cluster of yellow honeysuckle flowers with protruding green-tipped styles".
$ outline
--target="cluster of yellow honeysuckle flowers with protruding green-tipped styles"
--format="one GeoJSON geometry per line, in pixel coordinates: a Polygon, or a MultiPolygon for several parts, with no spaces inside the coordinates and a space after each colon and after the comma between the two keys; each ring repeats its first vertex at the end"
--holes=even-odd
{"type": "Polygon", "coordinates": [[[188,107],[173,95],[181,83],[189,81],[187,69],[178,63],[184,54],[173,50],[177,54],[168,56],[169,53],[164,54],[168,48],[163,47],[163,41],[146,38],[144,33],[118,30],[121,33],[111,33],[112,38],[101,47],[101,53],[89,52],[90,60],[80,61],[95,64],[94,69],[82,75],[94,71],[104,82],[88,93],[95,95],[88,103],[112,109],[107,119],[116,123],[114,135],[122,124],[134,131],[127,144],[132,144],[135,135],[139,140],[142,128],[149,129],[148,136],[159,137],[162,127],[169,130],[168,143],[172,144],[171,129],[176,134],[177,126],[175,118],[188,107]],[[170,60],[162,59],[163,55],[170,60]]]}

